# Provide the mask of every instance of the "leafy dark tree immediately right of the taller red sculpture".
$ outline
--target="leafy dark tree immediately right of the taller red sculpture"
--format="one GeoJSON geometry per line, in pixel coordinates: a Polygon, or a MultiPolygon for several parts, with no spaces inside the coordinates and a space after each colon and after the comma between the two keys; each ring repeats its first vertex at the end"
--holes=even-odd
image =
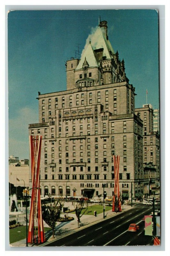
{"type": "Polygon", "coordinates": [[[52,228],[52,236],[54,238],[54,228],[56,226],[56,221],[59,219],[63,204],[60,201],[54,202],[53,204],[42,205],[42,216],[43,220],[50,228],[52,228]]]}

